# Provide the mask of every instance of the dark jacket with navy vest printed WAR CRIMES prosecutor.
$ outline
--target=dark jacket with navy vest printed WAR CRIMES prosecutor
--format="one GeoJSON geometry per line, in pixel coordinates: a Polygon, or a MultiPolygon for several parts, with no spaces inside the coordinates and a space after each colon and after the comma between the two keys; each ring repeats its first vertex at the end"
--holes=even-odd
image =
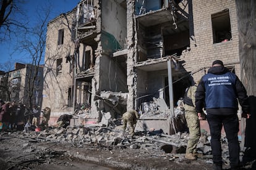
{"type": "Polygon", "coordinates": [[[201,112],[206,108],[207,114],[229,115],[237,113],[238,103],[244,113],[248,113],[249,104],[245,87],[239,78],[228,68],[211,67],[208,74],[200,80],[195,93],[195,108],[201,112]]]}

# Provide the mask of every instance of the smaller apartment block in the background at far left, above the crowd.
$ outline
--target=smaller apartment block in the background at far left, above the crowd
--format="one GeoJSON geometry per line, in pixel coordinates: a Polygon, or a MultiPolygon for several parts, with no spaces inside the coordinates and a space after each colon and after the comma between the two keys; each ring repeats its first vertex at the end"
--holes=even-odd
{"type": "Polygon", "coordinates": [[[1,99],[22,102],[27,107],[41,106],[43,92],[43,66],[15,63],[14,70],[2,73],[1,99]]]}

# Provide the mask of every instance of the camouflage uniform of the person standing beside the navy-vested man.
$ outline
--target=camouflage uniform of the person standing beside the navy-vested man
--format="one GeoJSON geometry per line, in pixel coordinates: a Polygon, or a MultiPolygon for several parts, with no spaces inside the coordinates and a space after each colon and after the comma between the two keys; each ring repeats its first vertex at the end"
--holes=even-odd
{"type": "MultiPolygon", "coordinates": [[[[187,91],[187,96],[192,99],[192,103],[195,106],[195,91],[197,86],[191,86],[187,91]]],[[[186,153],[197,153],[197,142],[200,139],[200,123],[195,107],[184,103],[185,117],[187,121],[187,127],[189,127],[189,141],[187,142],[186,153]]]]}

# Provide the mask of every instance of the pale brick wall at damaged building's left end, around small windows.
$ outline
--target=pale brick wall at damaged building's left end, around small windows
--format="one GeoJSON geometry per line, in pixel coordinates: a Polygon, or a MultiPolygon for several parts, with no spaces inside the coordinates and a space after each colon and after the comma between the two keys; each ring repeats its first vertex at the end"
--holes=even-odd
{"type": "Polygon", "coordinates": [[[51,108],[51,116],[72,113],[72,109],[67,104],[68,91],[73,83],[73,72],[70,71],[70,62],[66,62],[66,57],[74,55],[74,41],[72,41],[71,36],[74,16],[75,12],[69,12],[67,15],[60,15],[48,23],[42,108],[51,108]],[[64,29],[64,39],[63,44],[58,45],[58,33],[61,29],[64,29]],[[61,73],[57,74],[58,59],[62,59],[62,68],[61,73]]]}

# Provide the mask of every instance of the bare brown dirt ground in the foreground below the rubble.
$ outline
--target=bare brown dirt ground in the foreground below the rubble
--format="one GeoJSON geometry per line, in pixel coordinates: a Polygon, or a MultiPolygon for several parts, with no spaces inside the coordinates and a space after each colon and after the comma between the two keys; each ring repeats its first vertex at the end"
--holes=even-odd
{"type": "Polygon", "coordinates": [[[163,150],[60,144],[23,132],[2,133],[0,153],[0,169],[213,169],[210,158],[189,161],[163,150]]]}

